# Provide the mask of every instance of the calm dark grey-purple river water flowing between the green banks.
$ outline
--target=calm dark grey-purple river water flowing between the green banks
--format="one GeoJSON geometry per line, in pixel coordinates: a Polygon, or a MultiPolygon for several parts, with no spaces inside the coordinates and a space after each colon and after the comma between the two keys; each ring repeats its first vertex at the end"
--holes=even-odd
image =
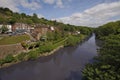
{"type": "Polygon", "coordinates": [[[81,80],[81,71],[97,56],[97,48],[93,34],[83,43],[53,55],[2,68],[0,80],[81,80]]]}

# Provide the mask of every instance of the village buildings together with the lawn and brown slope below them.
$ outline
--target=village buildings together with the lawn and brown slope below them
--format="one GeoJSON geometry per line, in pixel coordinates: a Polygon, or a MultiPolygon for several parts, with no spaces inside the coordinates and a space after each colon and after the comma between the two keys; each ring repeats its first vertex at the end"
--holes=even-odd
{"type": "Polygon", "coordinates": [[[32,44],[38,42],[43,36],[44,37],[42,39],[45,39],[47,32],[55,31],[55,28],[53,26],[46,26],[40,24],[36,25],[28,25],[25,23],[15,23],[13,25],[1,24],[0,28],[2,28],[3,26],[6,27],[8,30],[2,33],[0,29],[0,41],[1,41],[0,58],[3,58],[8,54],[21,53],[25,50],[25,48],[21,44],[22,42],[26,44],[32,44]],[[15,40],[12,37],[15,37],[15,40]],[[28,39],[25,39],[26,37],[28,37],[28,39]],[[9,38],[11,38],[12,40],[11,39],[9,40],[9,38]],[[20,41],[19,38],[21,38],[20,41]],[[6,42],[4,43],[3,41],[6,42]]]}

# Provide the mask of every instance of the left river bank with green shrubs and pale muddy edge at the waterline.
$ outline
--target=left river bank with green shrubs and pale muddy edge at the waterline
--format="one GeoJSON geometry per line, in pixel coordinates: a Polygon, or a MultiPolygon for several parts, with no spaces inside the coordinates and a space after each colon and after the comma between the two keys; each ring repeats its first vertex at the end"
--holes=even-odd
{"type": "MultiPolygon", "coordinates": [[[[82,42],[86,38],[88,38],[88,36],[78,37],[79,40],[77,39],[77,37],[73,37],[73,41],[76,41],[76,42],[73,42],[73,44],[71,46],[78,44],[78,42],[82,42]]],[[[14,56],[10,55],[10,56],[8,56],[8,58],[3,60],[3,62],[2,62],[2,60],[0,61],[1,62],[0,68],[9,67],[11,65],[14,65],[14,64],[17,64],[17,63],[20,63],[23,61],[35,60],[39,57],[52,55],[54,52],[56,52],[60,48],[63,48],[66,45],[66,43],[71,44],[72,39],[71,39],[71,42],[68,41],[70,39],[65,38],[62,41],[57,42],[54,45],[47,44],[47,46],[41,46],[40,48],[30,50],[27,53],[20,53],[18,55],[14,55],[14,56]]]]}

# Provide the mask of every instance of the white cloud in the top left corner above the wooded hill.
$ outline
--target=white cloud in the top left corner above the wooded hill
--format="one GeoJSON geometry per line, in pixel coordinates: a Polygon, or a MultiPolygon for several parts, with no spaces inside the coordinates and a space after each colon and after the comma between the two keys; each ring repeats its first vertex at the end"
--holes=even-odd
{"type": "Polygon", "coordinates": [[[14,12],[19,12],[17,0],[0,0],[0,7],[7,7],[14,12]]]}

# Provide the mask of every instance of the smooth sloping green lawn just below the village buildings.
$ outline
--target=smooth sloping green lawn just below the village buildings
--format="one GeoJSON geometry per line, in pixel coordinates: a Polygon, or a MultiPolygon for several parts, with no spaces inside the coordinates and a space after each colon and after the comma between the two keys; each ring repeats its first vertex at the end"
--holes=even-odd
{"type": "Polygon", "coordinates": [[[0,45],[16,44],[29,39],[28,35],[7,36],[0,39],[0,45]]]}

